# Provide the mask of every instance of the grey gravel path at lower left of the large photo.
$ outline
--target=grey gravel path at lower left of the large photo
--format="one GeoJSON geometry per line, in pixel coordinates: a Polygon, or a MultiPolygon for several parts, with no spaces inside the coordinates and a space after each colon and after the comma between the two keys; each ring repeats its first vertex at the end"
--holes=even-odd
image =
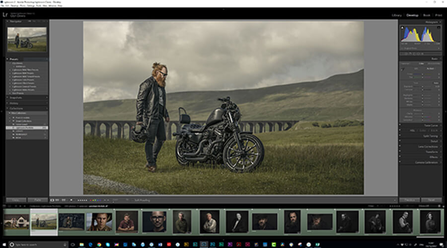
{"type": "Polygon", "coordinates": [[[155,191],[148,191],[143,188],[139,188],[139,187],[131,186],[128,184],[108,180],[103,177],[87,175],[87,174],[84,174],[84,184],[101,186],[101,187],[113,189],[116,191],[122,191],[122,192],[125,192],[126,194],[158,194],[155,191]]]}

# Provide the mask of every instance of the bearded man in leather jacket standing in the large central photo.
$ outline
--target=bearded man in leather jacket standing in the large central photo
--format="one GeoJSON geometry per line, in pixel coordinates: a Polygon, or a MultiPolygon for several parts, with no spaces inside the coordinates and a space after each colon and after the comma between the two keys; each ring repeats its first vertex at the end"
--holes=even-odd
{"type": "Polygon", "coordinates": [[[152,76],[140,84],[137,95],[137,125],[146,125],[148,140],[145,144],[146,160],[145,168],[149,172],[155,172],[157,155],[163,142],[166,140],[164,121],[169,122],[166,109],[166,76],[167,67],[164,64],[153,63],[152,76]],[[155,137],[156,142],[155,142],[155,137]],[[153,143],[155,142],[155,146],[153,143]]]}

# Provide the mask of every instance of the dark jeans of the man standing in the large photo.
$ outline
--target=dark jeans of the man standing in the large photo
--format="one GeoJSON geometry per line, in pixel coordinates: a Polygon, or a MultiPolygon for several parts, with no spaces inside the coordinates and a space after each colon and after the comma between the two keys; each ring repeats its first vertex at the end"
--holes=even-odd
{"type": "Polygon", "coordinates": [[[148,140],[145,144],[146,160],[149,166],[154,166],[157,161],[158,152],[160,152],[163,142],[166,140],[166,130],[164,128],[164,120],[162,117],[151,119],[148,126],[148,140]],[[155,141],[155,146],[153,145],[155,141]]]}

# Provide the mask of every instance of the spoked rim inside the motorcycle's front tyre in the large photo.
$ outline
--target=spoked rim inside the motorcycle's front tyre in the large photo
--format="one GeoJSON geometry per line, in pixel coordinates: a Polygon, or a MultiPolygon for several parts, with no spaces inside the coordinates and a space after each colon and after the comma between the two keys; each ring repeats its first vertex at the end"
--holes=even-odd
{"type": "Polygon", "coordinates": [[[261,157],[260,144],[249,136],[241,137],[241,149],[234,140],[226,150],[226,163],[233,170],[244,171],[256,166],[261,157]]]}

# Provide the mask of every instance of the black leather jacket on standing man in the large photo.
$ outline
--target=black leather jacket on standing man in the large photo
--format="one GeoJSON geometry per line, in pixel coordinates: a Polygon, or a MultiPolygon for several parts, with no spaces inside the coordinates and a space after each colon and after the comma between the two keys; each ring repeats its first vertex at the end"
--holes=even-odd
{"type": "MultiPolygon", "coordinates": [[[[140,90],[137,95],[137,122],[143,122],[143,118],[145,120],[158,119],[161,106],[158,103],[160,98],[158,87],[158,83],[153,76],[140,84],[140,90]]],[[[160,88],[161,92],[163,92],[163,117],[169,117],[166,109],[166,91],[163,87],[160,88]]]]}

